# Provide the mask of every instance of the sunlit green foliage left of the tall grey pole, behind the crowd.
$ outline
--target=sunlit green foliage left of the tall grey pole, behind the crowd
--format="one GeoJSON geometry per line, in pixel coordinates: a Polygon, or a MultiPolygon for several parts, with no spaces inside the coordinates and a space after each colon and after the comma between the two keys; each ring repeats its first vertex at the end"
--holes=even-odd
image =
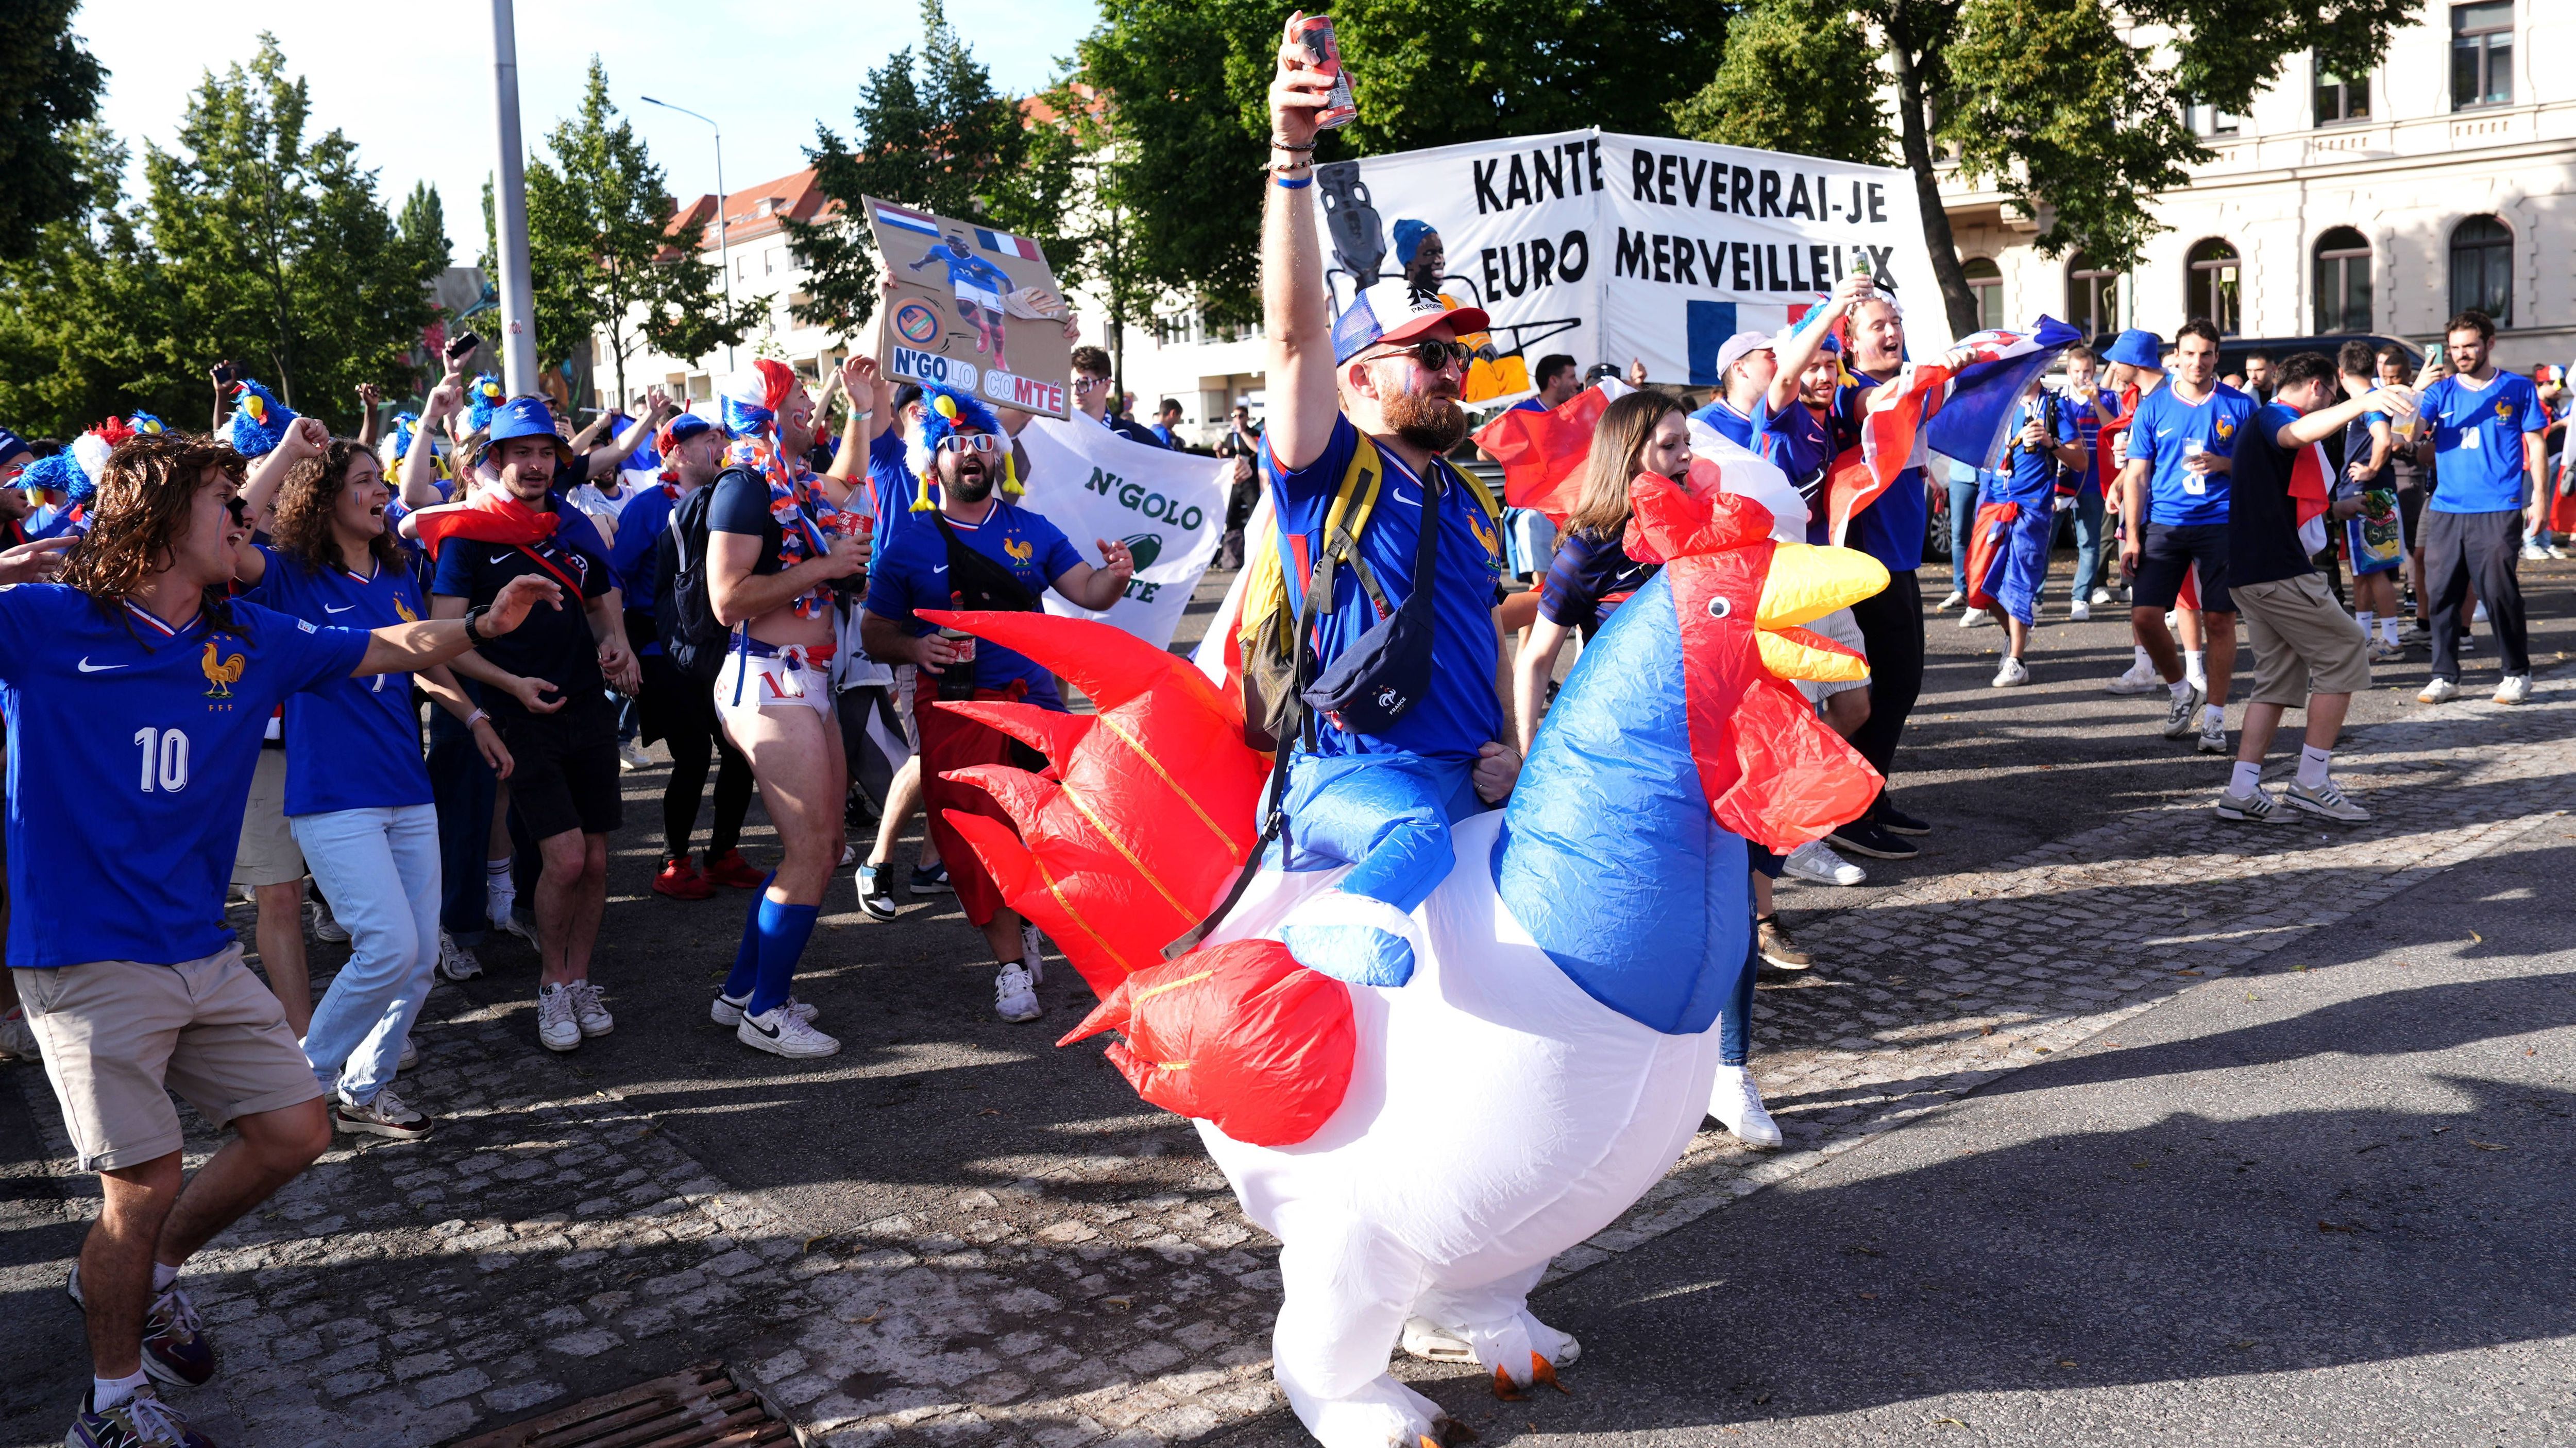
{"type": "Polygon", "coordinates": [[[0,268],[0,415],[75,433],[144,407],[206,417],[206,371],[237,361],[299,412],[355,423],[355,384],[410,384],[446,265],[438,198],[397,224],[340,131],[307,137],[304,82],[273,36],[188,95],[175,149],[75,126],[72,214],[0,268]]]}

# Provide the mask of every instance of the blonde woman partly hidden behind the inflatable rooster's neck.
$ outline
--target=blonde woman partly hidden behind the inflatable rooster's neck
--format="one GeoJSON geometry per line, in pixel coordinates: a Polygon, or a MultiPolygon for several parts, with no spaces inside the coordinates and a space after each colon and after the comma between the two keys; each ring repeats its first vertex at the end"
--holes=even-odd
{"type": "MultiPolygon", "coordinates": [[[[1602,410],[1592,428],[1592,453],[1584,459],[1584,484],[1577,495],[1566,528],[1556,536],[1556,559],[1538,590],[1538,621],[1512,660],[1512,719],[1520,727],[1520,755],[1530,755],[1538,737],[1538,719],[1546,714],[1546,688],[1556,675],[1556,654],[1566,647],[1566,634],[1584,639],[1656,575],[1659,564],[1641,564],[1628,557],[1623,538],[1636,510],[1628,490],[1638,477],[1669,477],[1680,482],[1690,472],[1690,417],[1682,405],[1662,392],[1631,392],[1602,410]]],[[[1757,958],[1772,958],[1772,940],[1780,953],[1795,956],[1788,935],[1772,915],[1772,881],[1777,855],[1752,845],[1757,868],[1752,871],[1757,958]],[[1759,866],[1759,861],[1770,861],[1759,866]],[[1765,873],[1765,868],[1770,873],[1765,873]]],[[[1762,1108],[1747,1056],[1752,1051],[1754,1013],[1754,961],[1747,961],[1734,1000],[1718,1013],[1718,1077],[1708,1090],[1708,1113],[1728,1131],[1754,1147],[1777,1147],[1780,1126],[1762,1108]]]]}

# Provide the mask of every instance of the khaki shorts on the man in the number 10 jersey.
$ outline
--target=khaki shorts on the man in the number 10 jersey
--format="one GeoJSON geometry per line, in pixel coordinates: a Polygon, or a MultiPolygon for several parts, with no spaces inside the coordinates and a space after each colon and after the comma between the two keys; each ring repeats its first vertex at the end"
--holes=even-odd
{"type": "Polygon", "coordinates": [[[178,1152],[173,1090],[214,1126],[322,1095],[286,1007],[240,946],[175,966],[90,961],[13,974],[82,1172],[178,1152]]]}

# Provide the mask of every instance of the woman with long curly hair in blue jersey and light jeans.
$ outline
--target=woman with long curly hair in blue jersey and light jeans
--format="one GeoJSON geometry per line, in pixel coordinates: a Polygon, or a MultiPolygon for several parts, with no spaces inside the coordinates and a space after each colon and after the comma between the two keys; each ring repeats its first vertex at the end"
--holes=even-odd
{"type": "MultiPolygon", "coordinates": [[[[240,551],[245,598],[322,629],[384,629],[428,618],[420,580],[384,526],[392,490],[363,443],[299,423],[250,477],[252,513],[276,497],[265,546],[240,551]],[[283,474],[283,482],[281,477],[283,474]]],[[[286,824],[350,956],[314,1005],[304,1056],[337,1098],[340,1131],[410,1141],[428,1116],[392,1080],[438,966],[438,812],[420,757],[412,680],[466,724],[507,778],[510,750],[446,665],[417,675],[343,678],[286,701],[286,824]]]]}

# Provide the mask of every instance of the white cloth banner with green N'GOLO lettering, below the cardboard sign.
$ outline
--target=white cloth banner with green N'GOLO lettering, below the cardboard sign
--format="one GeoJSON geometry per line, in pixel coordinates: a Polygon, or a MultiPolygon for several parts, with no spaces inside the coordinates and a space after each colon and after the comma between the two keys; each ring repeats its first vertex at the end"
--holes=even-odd
{"type": "Polygon", "coordinates": [[[1090,417],[1038,417],[1020,446],[1028,448],[1028,508],[1064,528],[1090,562],[1100,562],[1100,538],[1118,538],[1136,554],[1126,598],[1105,613],[1074,608],[1056,593],[1046,595],[1046,611],[1100,618],[1170,649],[1190,590],[1226,531],[1234,461],[1131,443],[1090,417]]]}

